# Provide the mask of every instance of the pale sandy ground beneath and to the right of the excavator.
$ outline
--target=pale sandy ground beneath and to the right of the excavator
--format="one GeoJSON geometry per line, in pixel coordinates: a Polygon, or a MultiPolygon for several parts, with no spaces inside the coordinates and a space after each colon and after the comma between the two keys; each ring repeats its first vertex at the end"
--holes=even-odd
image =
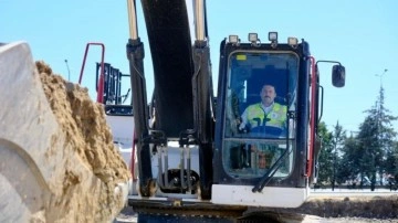
{"type": "MultiPolygon", "coordinates": [[[[252,209],[251,211],[259,211],[252,209]]],[[[289,222],[304,223],[398,223],[398,192],[384,195],[313,195],[297,209],[266,210],[283,214],[296,214],[289,222]]],[[[116,222],[137,222],[130,206],[122,210],[116,222]]]]}

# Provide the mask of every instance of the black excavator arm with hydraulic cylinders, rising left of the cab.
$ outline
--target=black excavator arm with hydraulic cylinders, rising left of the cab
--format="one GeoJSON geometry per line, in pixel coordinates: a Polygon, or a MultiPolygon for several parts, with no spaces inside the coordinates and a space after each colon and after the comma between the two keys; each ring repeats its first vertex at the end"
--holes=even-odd
{"type": "MultiPolygon", "coordinates": [[[[143,70],[144,49],[138,38],[135,1],[129,1],[128,14],[130,39],[127,57],[132,74],[133,108],[137,136],[137,158],[140,192],[150,195],[153,169],[150,167],[150,144],[161,145],[178,140],[181,147],[198,145],[201,190],[203,198],[210,198],[212,157],[212,81],[210,51],[207,41],[206,8],[203,1],[196,1],[196,23],[200,29],[193,42],[187,4],[179,1],[143,0],[150,55],[153,57],[155,89],[153,94],[154,126],[147,125],[145,75],[143,70]],[[190,142],[188,139],[192,138],[190,142]]],[[[188,6],[191,7],[191,6],[188,6]]]]}

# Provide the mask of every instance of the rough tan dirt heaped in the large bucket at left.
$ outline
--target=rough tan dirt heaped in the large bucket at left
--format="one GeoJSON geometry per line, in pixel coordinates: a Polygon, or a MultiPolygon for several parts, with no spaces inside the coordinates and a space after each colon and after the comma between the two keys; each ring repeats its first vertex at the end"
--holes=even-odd
{"type": "Polygon", "coordinates": [[[92,102],[86,88],[53,74],[44,62],[35,65],[60,127],[46,157],[61,152],[64,172],[53,173],[59,177],[49,185],[50,202],[33,221],[108,222],[123,208],[115,188],[130,173],[113,144],[103,105],[92,102]],[[61,147],[56,146],[59,138],[63,139],[61,147]]]}

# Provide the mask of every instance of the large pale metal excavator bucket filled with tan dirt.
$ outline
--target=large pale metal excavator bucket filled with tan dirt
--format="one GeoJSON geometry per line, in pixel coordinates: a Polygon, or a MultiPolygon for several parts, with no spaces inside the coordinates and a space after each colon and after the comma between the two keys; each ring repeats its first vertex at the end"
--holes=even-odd
{"type": "MultiPolygon", "coordinates": [[[[67,82],[59,86],[66,96],[76,89],[67,82]]],[[[52,109],[55,103],[45,95],[29,45],[1,44],[0,222],[106,222],[125,204],[128,170],[114,151],[112,137],[106,156],[100,153],[105,147],[91,148],[84,138],[83,148],[76,147],[71,136],[87,130],[77,126],[71,131],[64,125],[75,125],[67,123],[72,115],[82,119],[83,115],[70,109],[61,117],[52,109]],[[121,164],[109,167],[109,157],[121,164]],[[98,159],[103,161],[93,164],[98,159]]],[[[95,123],[106,124],[102,118],[95,123]]]]}

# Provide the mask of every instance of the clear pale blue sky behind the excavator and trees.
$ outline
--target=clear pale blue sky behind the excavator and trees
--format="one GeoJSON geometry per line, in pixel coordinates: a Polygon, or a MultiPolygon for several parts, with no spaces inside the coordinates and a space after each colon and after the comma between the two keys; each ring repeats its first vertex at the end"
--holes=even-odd
{"type": "MultiPolygon", "coordinates": [[[[224,38],[238,34],[244,41],[248,33],[256,32],[262,42],[266,42],[268,32],[276,31],[280,42],[289,36],[304,39],[316,60],[339,61],[345,66],[346,86],[335,88],[332,65],[320,64],[324,87],[322,120],[329,130],[338,121],[348,134],[357,132],[366,117],[364,112],[375,105],[381,84],[385,107],[390,115],[398,116],[397,11],[395,0],[207,0],[214,86],[219,44],[224,38]]],[[[137,13],[150,97],[151,59],[139,1],[137,13]]],[[[105,61],[129,73],[128,38],[127,1],[0,0],[0,42],[28,42],[35,61],[44,61],[54,73],[71,82],[78,81],[88,42],[103,43],[105,61]]],[[[95,62],[100,59],[101,49],[91,46],[82,85],[88,87],[93,98],[95,62]]],[[[398,131],[398,121],[392,124],[398,131]]]]}

